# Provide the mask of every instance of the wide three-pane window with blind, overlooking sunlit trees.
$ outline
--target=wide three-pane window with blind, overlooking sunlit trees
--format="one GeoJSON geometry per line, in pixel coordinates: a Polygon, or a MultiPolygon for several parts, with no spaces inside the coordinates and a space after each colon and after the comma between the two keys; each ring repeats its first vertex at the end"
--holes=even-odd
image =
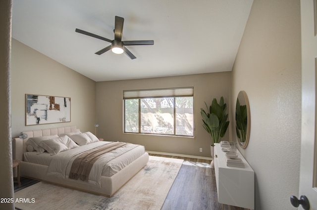
{"type": "Polygon", "coordinates": [[[123,91],[124,132],[194,136],[193,87],[123,91]]]}

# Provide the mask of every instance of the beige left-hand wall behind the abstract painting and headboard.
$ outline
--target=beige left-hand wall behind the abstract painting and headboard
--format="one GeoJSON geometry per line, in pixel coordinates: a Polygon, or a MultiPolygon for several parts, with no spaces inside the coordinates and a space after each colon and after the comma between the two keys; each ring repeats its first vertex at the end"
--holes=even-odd
{"type": "Polygon", "coordinates": [[[96,82],[12,39],[11,110],[12,136],[21,131],[77,126],[94,131],[96,82]],[[25,126],[25,94],[71,98],[71,122],[25,126]]]}

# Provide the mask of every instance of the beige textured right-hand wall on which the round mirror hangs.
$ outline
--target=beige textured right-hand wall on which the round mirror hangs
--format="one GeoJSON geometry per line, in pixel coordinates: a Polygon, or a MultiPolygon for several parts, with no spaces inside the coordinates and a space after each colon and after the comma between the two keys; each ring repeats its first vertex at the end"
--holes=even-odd
{"type": "Polygon", "coordinates": [[[250,142],[240,151],[256,173],[257,210],[292,209],[298,196],[300,27],[299,0],[254,0],[232,70],[231,108],[240,90],[250,102],[250,142]]]}

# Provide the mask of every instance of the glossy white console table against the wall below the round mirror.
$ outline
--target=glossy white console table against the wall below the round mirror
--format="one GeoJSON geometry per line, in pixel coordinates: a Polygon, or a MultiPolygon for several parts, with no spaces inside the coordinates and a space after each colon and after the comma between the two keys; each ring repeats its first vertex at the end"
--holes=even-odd
{"type": "Polygon", "coordinates": [[[214,170],[218,202],[230,206],[254,210],[254,171],[237,150],[245,168],[227,167],[225,152],[220,144],[214,144],[214,170]]]}

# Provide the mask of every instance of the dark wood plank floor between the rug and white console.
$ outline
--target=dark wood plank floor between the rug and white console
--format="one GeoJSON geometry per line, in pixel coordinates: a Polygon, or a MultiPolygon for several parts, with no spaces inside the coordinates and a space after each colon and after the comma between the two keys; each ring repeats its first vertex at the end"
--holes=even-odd
{"type": "Polygon", "coordinates": [[[180,168],[161,210],[246,210],[218,203],[214,169],[199,165],[199,163],[210,164],[210,160],[149,155],[189,162],[180,168]]]}

